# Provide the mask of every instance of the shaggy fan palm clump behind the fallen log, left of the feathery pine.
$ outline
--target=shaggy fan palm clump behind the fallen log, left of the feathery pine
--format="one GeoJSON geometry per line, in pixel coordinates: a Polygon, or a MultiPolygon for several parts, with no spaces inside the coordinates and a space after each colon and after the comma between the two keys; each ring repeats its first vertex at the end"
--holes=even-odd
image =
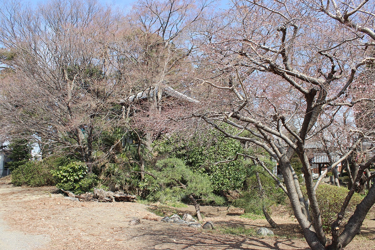
{"type": "Polygon", "coordinates": [[[125,128],[114,127],[103,131],[98,142],[98,150],[94,151],[94,158],[100,162],[98,175],[101,185],[110,191],[122,191],[145,196],[154,190],[150,186],[150,178],[145,175],[140,178],[141,161],[147,163],[152,154],[143,144],[139,145],[141,156],[138,154],[138,144],[129,143],[137,135],[125,128]]]}

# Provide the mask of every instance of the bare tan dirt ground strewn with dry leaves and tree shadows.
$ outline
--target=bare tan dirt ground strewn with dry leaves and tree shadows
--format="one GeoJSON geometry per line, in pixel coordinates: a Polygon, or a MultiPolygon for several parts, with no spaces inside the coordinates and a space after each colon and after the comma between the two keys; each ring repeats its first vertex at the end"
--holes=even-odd
{"type": "MultiPolygon", "coordinates": [[[[160,222],[147,205],[130,202],[78,202],[58,194],[55,187],[13,187],[0,179],[0,250],[302,250],[297,223],[283,212],[274,219],[281,229],[275,237],[220,234],[160,222]],[[133,218],[140,225],[131,226],[133,218]]],[[[193,212],[193,207],[180,208],[193,212]]],[[[227,215],[226,207],[202,207],[205,221],[216,226],[269,227],[265,220],[227,215]]],[[[375,250],[375,219],[366,220],[348,250],[375,250]]]]}

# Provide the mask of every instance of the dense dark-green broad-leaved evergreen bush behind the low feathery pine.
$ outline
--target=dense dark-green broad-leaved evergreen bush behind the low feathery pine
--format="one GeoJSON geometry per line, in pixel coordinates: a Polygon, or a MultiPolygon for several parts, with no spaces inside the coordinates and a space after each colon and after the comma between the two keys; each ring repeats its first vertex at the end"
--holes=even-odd
{"type": "Polygon", "coordinates": [[[243,159],[215,164],[233,159],[243,148],[239,141],[225,138],[214,129],[207,129],[204,135],[195,134],[184,141],[183,135],[174,135],[155,143],[160,154],[183,160],[194,173],[208,176],[214,192],[241,189],[246,179],[243,159]]]}

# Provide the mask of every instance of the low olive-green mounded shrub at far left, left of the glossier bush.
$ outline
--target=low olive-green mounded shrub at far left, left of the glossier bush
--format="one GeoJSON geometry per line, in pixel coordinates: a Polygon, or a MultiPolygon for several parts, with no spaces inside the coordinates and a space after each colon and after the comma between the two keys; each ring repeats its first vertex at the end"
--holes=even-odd
{"type": "Polygon", "coordinates": [[[56,182],[51,174],[53,166],[43,162],[27,161],[12,172],[12,183],[15,186],[52,186],[56,182]]]}

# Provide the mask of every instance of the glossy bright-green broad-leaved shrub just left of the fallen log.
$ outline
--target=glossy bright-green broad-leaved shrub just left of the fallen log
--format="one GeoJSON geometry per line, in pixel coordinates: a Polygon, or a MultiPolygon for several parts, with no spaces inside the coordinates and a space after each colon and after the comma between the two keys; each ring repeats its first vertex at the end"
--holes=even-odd
{"type": "Polygon", "coordinates": [[[57,166],[51,172],[57,181],[57,188],[75,194],[89,192],[98,183],[98,177],[95,174],[87,174],[87,166],[84,162],[70,161],[57,166]]]}

